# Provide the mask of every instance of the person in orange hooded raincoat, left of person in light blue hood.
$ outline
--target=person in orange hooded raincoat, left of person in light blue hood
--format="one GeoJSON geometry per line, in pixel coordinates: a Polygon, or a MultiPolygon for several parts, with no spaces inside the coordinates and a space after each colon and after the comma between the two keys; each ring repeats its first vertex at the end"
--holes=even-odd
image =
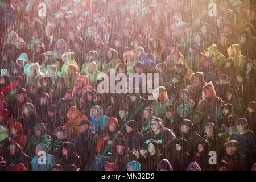
{"type": "Polygon", "coordinates": [[[67,117],[69,118],[69,121],[67,121],[64,126],[67,127],[69,137],[75,139],[80,134],[77,125],[84,119],[88,120],[88,118],[85,115],[82,115],[76,106],[70,107],[67,117]]]}

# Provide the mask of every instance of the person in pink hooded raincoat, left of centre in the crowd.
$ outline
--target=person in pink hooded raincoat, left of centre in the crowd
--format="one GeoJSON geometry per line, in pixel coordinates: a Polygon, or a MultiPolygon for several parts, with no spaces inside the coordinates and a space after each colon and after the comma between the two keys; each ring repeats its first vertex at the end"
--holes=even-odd
{"type": "Polygon", "coordinates": [[[89,84],[88,76],[82,75],[76,80],[76,86],[73,88],[73,93],[77,95],[82,95],[85,93],[86,90],[93,90],[92,86],[89,84]],[[81,82],[82,86],[79,85],[79,81],[81,82]]]}

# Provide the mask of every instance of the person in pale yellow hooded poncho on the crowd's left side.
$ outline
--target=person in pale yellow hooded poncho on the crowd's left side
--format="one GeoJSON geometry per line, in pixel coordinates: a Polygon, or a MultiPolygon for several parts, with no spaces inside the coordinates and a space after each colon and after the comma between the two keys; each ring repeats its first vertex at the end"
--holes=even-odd
{"type": "Polygon", "coordinates": [[[74,64],[76,66],[76,71],[79,72],[80,68],[75,61],[74,55],[75,55],[74,52],[66,52],[66,51],[61,55],[61,59],[64,64],[61,67],[61,71],[59,73],[60,76],[64,77],[65,75],[67,75],[67,65],[70,65],[70,64],[74,64]]]}

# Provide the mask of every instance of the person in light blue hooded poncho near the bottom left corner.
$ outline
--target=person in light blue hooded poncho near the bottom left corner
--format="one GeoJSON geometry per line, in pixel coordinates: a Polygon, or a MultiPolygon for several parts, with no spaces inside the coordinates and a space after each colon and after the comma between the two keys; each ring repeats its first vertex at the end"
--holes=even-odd
{"type": "Polygon", "coordinates": [[[56,164],[56,158],[53,155],[48,154],[49,148],[47,144],[40,143],[36,145],[36,156],[32,158],[32,169],[33,171],[50,171],[52,167],[56,164]],[[39,158],[42,154],[40,152],[44,152],[46,154],[46,163],[39,164],[39,158]]]}

